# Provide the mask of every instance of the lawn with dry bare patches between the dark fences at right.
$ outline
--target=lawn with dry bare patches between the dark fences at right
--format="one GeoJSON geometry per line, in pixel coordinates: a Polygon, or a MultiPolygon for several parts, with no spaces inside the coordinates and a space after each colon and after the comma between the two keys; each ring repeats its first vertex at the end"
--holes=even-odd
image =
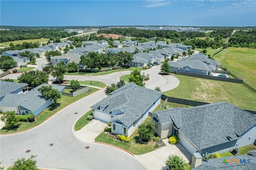
{"type": "Polygon", "coordinates": [[[229,102],[241,109],[256,110],[255,93],[242,84],[175,75],[180,84],[163,94],[171,97],[215,103],[229,102]]]}

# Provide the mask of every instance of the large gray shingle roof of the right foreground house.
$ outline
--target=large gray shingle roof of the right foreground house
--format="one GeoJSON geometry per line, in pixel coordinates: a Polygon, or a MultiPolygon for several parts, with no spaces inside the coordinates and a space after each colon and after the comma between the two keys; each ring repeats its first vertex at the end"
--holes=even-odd
{"type": "Polygon", "coordinates": [[[170,109],[157,115],[160,122],[172,120],[199,150],[236,140],[256,124],[255,115],[225,102],[170,109]]]}

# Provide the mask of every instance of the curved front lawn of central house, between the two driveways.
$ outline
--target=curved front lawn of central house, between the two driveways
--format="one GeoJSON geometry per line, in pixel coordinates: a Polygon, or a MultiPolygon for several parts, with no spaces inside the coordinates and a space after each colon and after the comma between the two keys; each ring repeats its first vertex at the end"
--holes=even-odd
{"type": "MultiPolygon", "coordinates": [[[[152,121],[151,117],[148,117],[143,123],[146,123],[149,121],[152,121]]],[[[150,142],[148,142],[147,144],[144,144],[140,140],[138,140],[138,138],[139,137],[138,137],[138,129],[137,129],[132,134],[131,140],[128,143],[111,138],[105,132],[102,132],[101,134],[99,134],[95,138],[95,141],[118,146],[118,147],[123,148],[123,149],[131,152],[132,154],[136,154],[136,155],[145,154],[145,153],[152,152],[153,150],[155,150],[153,140],[150,140],[150,142]]]]}

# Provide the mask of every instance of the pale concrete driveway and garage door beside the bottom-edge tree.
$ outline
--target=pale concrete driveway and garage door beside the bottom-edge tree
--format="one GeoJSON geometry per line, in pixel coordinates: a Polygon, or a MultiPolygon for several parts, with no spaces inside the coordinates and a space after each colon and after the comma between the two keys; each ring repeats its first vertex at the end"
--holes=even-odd
{"type": "Polygon", "coordinates": [[[164,139],[163,142],[166,146],[146,154],[135,155],[136,158],[144,162],[144,164],[151,170],[167,170],[165,161],[168,159],[168,156],[172,154],[181,156],[186,163],[191,161],[191,155],[180,145],[180,143],[170,144],[168,139],[164,139]]]}

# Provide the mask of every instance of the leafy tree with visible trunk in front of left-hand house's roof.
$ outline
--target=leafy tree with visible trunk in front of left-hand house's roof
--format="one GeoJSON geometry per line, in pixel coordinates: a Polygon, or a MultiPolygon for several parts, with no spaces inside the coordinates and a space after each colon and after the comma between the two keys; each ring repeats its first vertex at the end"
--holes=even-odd
{"type": "Polygon", "coordinates": [[[38,88],[38,91],[46,98],[54,101],[54,106],[57,106],[57,100],[60,99],[61,95],[57,89],[53,89],[51,85],[42,86],[38,88]]]}

